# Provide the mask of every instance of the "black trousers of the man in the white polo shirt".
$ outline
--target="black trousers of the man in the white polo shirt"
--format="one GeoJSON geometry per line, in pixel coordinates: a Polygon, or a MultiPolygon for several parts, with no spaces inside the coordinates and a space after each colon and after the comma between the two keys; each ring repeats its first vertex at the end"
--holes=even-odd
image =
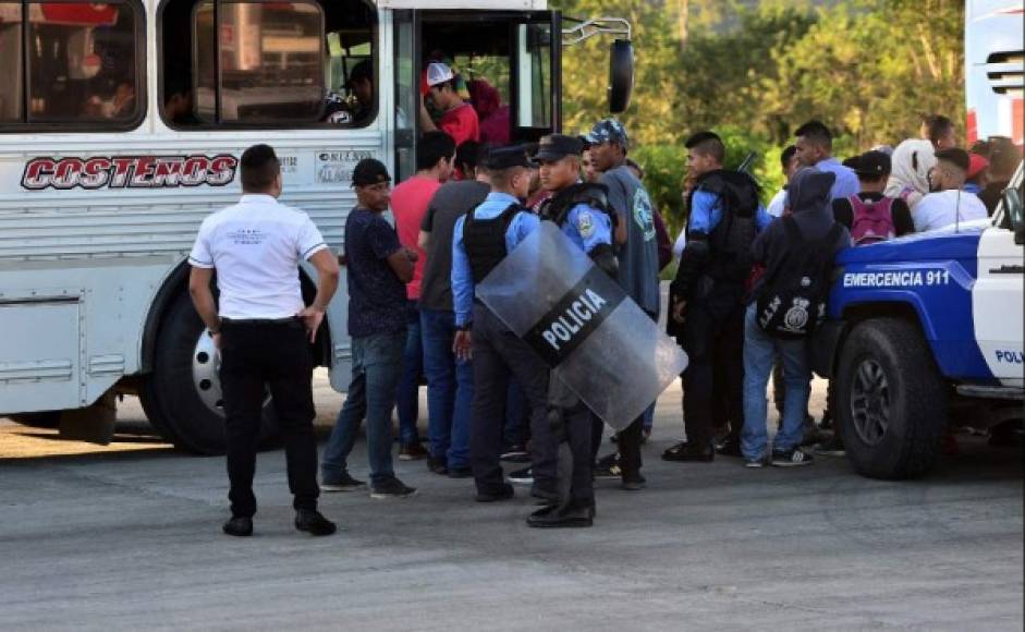
{"type": "Polygon", "coordinates": [[[232,515],[256,513],[253,475],[265,385],[273,398],[284,439],[293,505],[295,509],[316,509],[320,489],[313,426],[313,357],[303,324],[225,321],[220,353],[232,515]]]}

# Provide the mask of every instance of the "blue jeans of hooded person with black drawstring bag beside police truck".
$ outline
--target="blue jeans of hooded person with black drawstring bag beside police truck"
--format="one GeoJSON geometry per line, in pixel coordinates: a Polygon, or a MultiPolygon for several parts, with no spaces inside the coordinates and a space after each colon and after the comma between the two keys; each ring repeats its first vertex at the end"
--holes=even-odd
{"type": "Polygon", "coordinates": [[[769,336],[758,326],[756,312],[757,304],[753,303],[744,317],[744,432],[741,435],[741,450],[748,459],[764,458],[769,442],[766,387],[777,354],[783,363],[786,403],[783,406],[782,427],[772,442],[773,452],[792,450],[801,445],[805,411],[812,393],[807,341],[769,336]]]}

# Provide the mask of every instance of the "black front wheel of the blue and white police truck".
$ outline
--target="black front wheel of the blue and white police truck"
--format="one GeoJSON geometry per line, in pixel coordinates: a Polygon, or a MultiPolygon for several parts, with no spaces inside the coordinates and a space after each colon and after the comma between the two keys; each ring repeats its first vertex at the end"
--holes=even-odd
{"type": "Polygon", "coordinates": [[[873,478],[914,478],[936,463],[947,392],[918,328],[900,318],[857,325],[837,372],[837,417],[854,469],[873,478]]]}

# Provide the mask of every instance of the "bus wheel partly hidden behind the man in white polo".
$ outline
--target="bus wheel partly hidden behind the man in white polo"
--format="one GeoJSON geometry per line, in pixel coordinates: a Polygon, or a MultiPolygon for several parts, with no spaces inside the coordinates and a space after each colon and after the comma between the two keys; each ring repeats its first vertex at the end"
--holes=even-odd
{"type": "MultiPolygon", "coordinates": [[[[213,340],[183,292],[160,325],[154,369],[141,389],[143,408],[152,426],[181,449],[198,454],[224,453],[219,365],[213,340]]],[[[277,435],[268,396],[260,425],[261,446],[272,445],[277,435]]]]}

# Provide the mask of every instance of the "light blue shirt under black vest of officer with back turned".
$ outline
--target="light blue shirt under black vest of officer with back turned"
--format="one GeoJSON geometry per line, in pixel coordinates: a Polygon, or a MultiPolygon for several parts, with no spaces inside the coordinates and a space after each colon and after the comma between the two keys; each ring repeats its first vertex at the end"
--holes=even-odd
{"type": "MultiPolygon", "coordinates": [[[[520,200],[508,193],[492,191],[488,194],[484,204],[471,212],[474,214],[475,219],[495,219],[513,204],[520,204],[520,200]]],[[[455,232],[452,239],[452,300],[455,304],[456,327],[473,320],[474,309],[474,276],[469,267],[469,257],[466,255],[466,247],[463,245],[463,224],[465,222],[465,216],[459,218],[455,222],[455,232]]],[[[517,212],[505,231],[505,252],[513,252],[539,226],[540,218],[536,215],[526,210],[517,212]]]]}

